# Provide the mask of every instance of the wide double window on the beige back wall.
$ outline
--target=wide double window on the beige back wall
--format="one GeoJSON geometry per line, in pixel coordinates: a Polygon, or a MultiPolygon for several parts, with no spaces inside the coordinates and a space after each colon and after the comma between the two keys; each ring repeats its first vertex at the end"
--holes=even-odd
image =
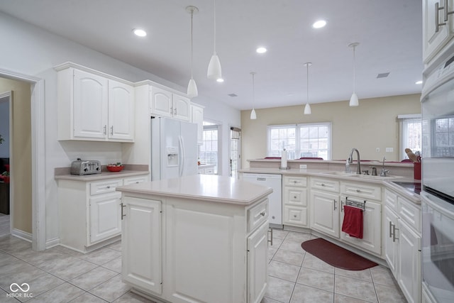
{"type": "Polygon", "coordinates": [[[331,123],[268,126],[268,157],[331,159],[331,123]]]}

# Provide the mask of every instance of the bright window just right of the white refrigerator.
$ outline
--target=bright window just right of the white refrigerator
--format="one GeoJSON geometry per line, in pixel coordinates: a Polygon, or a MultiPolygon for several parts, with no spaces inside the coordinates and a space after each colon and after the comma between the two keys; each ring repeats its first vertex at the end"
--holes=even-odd
{"type": "Polygon", "coordinates": [[[218,173],[218,126],[204,121],[203,143],[199,145],[201,164],[214,165],[214,174],[218,173]]]}

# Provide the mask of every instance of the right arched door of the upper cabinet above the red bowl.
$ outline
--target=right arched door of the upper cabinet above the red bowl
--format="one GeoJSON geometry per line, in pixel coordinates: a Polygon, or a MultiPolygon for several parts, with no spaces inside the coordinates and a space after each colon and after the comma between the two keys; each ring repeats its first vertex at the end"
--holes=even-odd
{"type": "Polygon", "coordinates": [[[134,89],[109,80],[109,139],[134,141],[134,89]]]}

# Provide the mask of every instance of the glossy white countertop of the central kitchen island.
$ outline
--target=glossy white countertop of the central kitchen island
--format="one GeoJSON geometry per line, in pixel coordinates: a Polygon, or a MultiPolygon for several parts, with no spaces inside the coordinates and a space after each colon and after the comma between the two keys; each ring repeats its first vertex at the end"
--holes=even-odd
{"type": "Polygon", "coordinates": [[[218,175],[192,175],[156,180],[121,186],[116,190],[241,205],[253,204],[272,193],[270,187],[218,175]]]}

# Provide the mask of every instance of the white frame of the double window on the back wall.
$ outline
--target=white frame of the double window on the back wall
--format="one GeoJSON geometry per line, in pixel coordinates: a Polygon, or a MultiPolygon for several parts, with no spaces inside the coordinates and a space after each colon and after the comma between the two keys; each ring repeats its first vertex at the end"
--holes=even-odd
{"type": "MultiPolygon", "coordinates": [[[[331,155],[332,155],[332,124],[331,122],[319,122],[319,123],[299,123],[299,124],[284,124],[284,125],[270,125],[267,126],[267,156],[272,157],[276,155],[272,155],[272,152],[275,150],[271,150],[271,141],[270,141],[270,133],[272,130],[278,129],[278,128],[294,128],[295,131],[295,148],[294,148],[294,155],[300,155],[301,153],[301,147],[300,147],[300,128],[301,126],[327,126],[328,127],[328,148],[327,148],[327,158],[323,160],[331,160],[331,155]]],[[[279,149],[282,150],[282,148],[288,148],[286,146],[282,146],[279,144],[279,149]]],[[[293,152],[292,152],[293,153],[293,152]]],[[[292,154],[290,153],[290,154],[292,154]]],[[[289,157],[289,153],[287,153],[287,158],[289,159],[294,159],[297,158],[299,159],[300,157],[289,157]]]]}

